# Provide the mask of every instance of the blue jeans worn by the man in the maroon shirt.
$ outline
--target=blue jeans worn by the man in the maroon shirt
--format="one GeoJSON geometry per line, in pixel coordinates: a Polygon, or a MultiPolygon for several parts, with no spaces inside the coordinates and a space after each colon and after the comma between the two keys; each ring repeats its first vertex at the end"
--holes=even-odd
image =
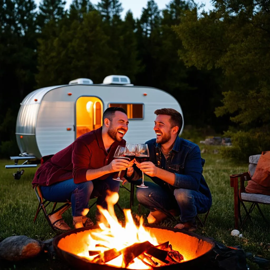
{"type": "MultiPolygon", "coordinates": [[[[107,209],[106,190],[118,192],[119,183],[112,179],[112,176],[105,180],[92,180],[79,184],[75,184],[73,178],[50,185],[40,187],[43,197],[52,202],[65,203],[67,200],[71,202],[72,216],[81,216],[83,211],[88,209],[88,201],[97,198],[97,205],[107,209]]],[[[97,219],[100,213],[97,210],[97,219]]]]}

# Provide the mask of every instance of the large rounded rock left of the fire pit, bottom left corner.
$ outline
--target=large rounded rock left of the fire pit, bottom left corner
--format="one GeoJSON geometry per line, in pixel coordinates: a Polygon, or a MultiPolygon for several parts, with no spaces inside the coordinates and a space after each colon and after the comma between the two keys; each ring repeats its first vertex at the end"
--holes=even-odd
{"type": "Polygon", "coordinates": [[[0,243],[0,258],[8,261],[20,261],[37,256],[43,244],[25,235],[11,236],[0,243]]]}

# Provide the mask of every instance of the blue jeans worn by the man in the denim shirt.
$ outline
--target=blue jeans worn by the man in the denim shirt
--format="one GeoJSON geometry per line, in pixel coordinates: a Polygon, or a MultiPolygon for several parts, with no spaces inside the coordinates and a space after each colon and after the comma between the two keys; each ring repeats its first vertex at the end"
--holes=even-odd
{"type": "Polygon", "coordinates": [[[211,207],[211,201],[205,195],[195,190],[176,188],[174,192],[152,182],[144,182],[148,188],[137,188],[136,196],[139,203],[150,211],[160,210],[169,216],[169,210],[176,210],[181,222],[193,220],[197,214],[206,213],[211,207]]]}

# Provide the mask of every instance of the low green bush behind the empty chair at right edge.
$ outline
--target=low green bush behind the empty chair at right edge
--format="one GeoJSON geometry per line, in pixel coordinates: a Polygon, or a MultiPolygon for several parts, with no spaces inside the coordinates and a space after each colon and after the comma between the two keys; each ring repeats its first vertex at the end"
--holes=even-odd
{"type": "Polygon", "coordinates": [[[224,136],[231,137],[232,146],[221,150],[224,158],[247,162],[249,156],[261,154],[270,149],[270,135],[267,130],[249,130],[232,133],[226,132],[224,136]]]}

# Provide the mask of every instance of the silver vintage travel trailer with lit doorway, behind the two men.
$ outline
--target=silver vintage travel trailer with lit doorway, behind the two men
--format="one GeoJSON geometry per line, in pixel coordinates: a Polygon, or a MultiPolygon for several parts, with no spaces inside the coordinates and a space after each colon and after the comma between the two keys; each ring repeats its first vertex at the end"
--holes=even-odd
{"type": "Polygon", "coordinates": [[[11,157],[15,165],[6,168],[36,167],[41,157],[55,154],[80,135],[102,126],[104,110],[115,106],[127,111],[129,130],[124,139],[134,144],[156,136],[156,109],[173,108],[182,114],[173,96],[153,87],[134,86],[127,76],[110,75],[102,84],[80,78],[68,85],[37,89],[21,103],[16,123],[21,154],[11,157]],[[25,161],[19,165],[19,160],[25,161]]]}

